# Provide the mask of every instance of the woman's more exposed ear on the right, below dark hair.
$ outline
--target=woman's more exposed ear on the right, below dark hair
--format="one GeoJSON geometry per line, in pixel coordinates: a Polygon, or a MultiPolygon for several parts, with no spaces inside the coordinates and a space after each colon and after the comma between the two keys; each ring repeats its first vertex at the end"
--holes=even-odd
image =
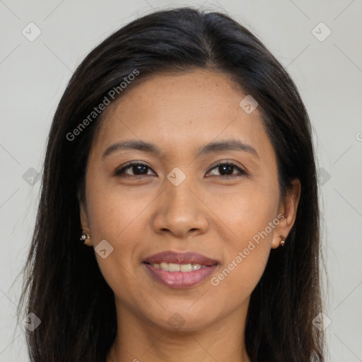
{"type": "Polygon", "coordinates": [[[276,249],[279,247],[281,241],[281,235],[286,238],[291,231],[291,228],[296,221],[296,214],[298,204],[300,200],[301,185],[298,179],[292,181],[292,187],[288,190],[286,197],[282,200],[279,206],[279,215],[283,215],[283,218],[279,216],[279,224],[274,229],[273,241],[271,248],[276,249]]]}

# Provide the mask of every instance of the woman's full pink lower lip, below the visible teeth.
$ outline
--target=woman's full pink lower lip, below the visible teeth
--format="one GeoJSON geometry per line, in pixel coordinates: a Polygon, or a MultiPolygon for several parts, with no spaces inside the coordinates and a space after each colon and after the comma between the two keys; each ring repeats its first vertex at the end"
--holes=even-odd
{"type": "Polygon", "coordinates": [[[186,271],[165,271],[153,267],[151,264],[143,263],[149,273],[165,286],[170,288],[189,288],[204,281],[215,269],[217,265],[207,266],[199,270],[186,271]]]}

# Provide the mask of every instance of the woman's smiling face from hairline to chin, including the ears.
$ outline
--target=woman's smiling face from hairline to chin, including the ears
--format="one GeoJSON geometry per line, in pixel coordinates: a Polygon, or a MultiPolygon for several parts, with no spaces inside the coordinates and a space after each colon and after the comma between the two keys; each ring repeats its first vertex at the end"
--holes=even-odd
{"type": "Polygon", "coordinates": [[[276,155],[258,108],[240,107],[246,95],[196,70],[131,84],[108,106],[81,218],[117,315],[197,330],[247,310],[298,197],[280,199],[276,155]]]}

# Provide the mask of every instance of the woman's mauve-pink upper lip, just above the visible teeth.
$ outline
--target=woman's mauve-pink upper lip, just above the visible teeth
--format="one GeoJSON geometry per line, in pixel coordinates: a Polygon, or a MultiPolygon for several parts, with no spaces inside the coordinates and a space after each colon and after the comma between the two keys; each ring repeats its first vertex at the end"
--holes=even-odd
{"type": "Polygon", "coordinates": [[[151,255],[144,259],[144,262],[149,264],[159,263],[175,263],[175,264],[201,264],[201,265],[214,265],[218,261],[206,257],[205,255],[197,252],[159,252],[158,254],[151,255]]]}

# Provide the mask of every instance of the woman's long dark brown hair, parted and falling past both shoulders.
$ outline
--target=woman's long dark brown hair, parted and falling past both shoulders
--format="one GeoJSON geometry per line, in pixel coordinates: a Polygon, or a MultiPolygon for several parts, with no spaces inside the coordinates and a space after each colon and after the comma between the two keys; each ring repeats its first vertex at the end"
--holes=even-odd
{"type": "Polygon", "coordinates": [[[104,362],[117,332],[112,290],[93,248],[78,240],[88,154],[103,119],[103,113],[89,115],[135,69],[138,82],[158,71],[198,68],[230,75],[259,103],[276,151],[281,195],[294,178],[301,183],[286,246],[271,250],[251,295],[247,354],[252,362],[324,361],[323,333],[313,325],[322,311],[320,211],[303,101],[284,67],[243,25],[223,13],[178,8],[143,16],[107,37],[78,66],[59,102],[18,310],[41,320],[26,334],[32,362],[104,362]],[[79,128],[87,117],[90,122],[79,128]],[[77,133],[75,139],[69,140],[70,133],[77,133]]]}

